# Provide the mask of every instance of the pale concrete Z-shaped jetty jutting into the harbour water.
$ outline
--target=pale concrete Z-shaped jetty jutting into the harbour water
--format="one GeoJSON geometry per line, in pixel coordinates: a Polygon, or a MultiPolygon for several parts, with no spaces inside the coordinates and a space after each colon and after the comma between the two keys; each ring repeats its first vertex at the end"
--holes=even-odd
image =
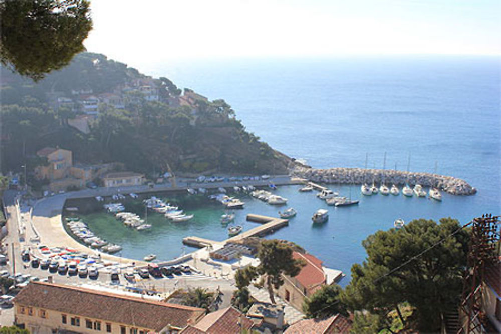
{"type": "Polygon", "coordinates": [[[212,241],[208,239],[199,238],[196,236],[189,236],[183,239],[183,244],[203,248],[207,246],[213,245],[224,245],[227,242],[232,241],[240,241],[253,236],[264,236],[270,233],[275,232],[276,230],[289,225],[289,221],[287,219],[276,218],[276,217],[267,217],[261,216],[257,214],[247,214],[247,221],[252,221],[256,223],[262,224],[261,226],[255,227],[248,231],[242,232],[238,235],[235,235],[225,241],[212,241]]]}

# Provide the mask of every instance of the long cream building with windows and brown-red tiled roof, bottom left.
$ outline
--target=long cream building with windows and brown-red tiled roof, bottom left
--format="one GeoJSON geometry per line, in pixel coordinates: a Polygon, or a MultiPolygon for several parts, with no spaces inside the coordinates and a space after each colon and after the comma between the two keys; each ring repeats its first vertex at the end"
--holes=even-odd
{"type": "Polygon", "coordinates": [[[204,309],[81,287],[32,282],[14,298],[14,321],[32,333],[178,333],[204,309]]]}

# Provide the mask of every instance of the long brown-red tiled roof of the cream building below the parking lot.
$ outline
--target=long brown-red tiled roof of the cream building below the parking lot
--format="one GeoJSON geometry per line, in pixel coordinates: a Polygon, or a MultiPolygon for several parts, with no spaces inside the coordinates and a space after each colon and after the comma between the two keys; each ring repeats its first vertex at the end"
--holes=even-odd
{"type": "Polygon", "coordinates": [[[155,331],[169,324],[184,328],[189,322],[196,322],[205,312],[196,307],[42,282],[28,284],[16,296],[14,303],[155,331]]]}

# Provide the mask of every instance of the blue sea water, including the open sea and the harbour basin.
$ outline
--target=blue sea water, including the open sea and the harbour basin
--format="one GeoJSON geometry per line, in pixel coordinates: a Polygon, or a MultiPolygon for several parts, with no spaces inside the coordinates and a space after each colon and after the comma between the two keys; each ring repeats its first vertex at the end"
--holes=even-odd
{"type": "MultiPolygon", "coordinates": [[[[269,238],[294,241],[349,274],[351,265],[365,258],[361,241],[391,228],[396,218],[450,216],[466,223],[482,213],[501,213],[499,64],[489,57],[405,56],[179,62],[141,70],[209,99],[225,99],[249,131],[313,167],[364,167],[368,153],[368,167],[382,168],[387,152],[387,169],[406,170],[410,154],[411,171],[433,172],[437,164],[438,173],[463,178],[478,189],[474,196],[443,194],[437,203],[401,195],[362,198],[354,186],[351,194],[360,205],[328,207],[329,222],[313,227],[312,213],[327,205],[313,193],[300,194],[297,186],[281,187],[277,193],[299,213],[269,238]]],[[[332,188],[349,193],[347,186],[332,188]]],[[[279,210],[243,198],[238,223],[246,213],[276,215],[279,210]]],[[[176,257],[188,235],[226,238],[218,221],[222,207],[177,200],[195,219],[173,224],[150,214],[153,229],[140,233],[102,213],[85,218],[92,230],[123,245],[122,255],[132,258],[152,252],[159,259],[176,257]]],[[[254,226],[244,223],[245,229],[254,226]]]]}

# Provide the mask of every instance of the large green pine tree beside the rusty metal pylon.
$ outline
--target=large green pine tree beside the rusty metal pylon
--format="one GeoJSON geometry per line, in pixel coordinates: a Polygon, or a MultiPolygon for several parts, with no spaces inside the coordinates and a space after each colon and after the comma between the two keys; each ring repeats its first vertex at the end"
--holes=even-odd
{"type": "Polygon", "coordinates": [[[440,314],[457,306],[466,264],[468,232],[457,220],[413,220],[400,230],[378,231],[363,246],[367,260],[353,265],[352,280],[341,295],[351,310],[400,314],[409,302],[420,330],[436,331],[440,314]]]}

